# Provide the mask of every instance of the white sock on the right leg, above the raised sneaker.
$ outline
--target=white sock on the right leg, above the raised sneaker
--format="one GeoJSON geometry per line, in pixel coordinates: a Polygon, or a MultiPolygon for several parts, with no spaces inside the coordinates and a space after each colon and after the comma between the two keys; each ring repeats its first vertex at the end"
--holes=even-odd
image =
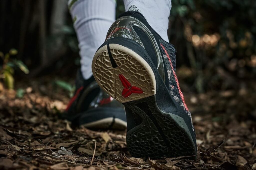
{"type": "Polygon", "coordinates": [[[171,0],[124,0],[125,11],[140,12],[150,26],[167,42],[171,0]]]}

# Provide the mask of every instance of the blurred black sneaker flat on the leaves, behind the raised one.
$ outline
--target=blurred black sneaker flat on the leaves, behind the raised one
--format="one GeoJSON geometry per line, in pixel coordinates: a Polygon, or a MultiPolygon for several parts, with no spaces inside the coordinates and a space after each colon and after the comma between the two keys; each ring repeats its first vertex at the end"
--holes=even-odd
{"type": "Polygon", "coordinates": [[[123,105],[101,90],[93,76],[84,80],[80,71],[77,73],[75,94],[62,118],[71,121],[72,125],[91,129],[126,128],[123,105]]]}

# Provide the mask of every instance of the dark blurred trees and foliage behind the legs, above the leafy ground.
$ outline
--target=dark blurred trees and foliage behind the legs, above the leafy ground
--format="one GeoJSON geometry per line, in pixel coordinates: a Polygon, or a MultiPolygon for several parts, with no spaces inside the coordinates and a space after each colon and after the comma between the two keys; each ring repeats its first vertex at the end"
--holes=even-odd
{"type": "MultiPolygon", "coordinates": [[[[17,70],[15,80],[75,75],[79,49],[67,0],[1,1],[0,8],[1,56],[16,49],[11,60],[30,71],[17,70]]],[[[118,0],[116,16],[123,11],[118,0]]],[[[168,35],[180,79],[196,93],[247,88],[256,77],[255,16],[254,0],[172,0],[168,35]]]]}

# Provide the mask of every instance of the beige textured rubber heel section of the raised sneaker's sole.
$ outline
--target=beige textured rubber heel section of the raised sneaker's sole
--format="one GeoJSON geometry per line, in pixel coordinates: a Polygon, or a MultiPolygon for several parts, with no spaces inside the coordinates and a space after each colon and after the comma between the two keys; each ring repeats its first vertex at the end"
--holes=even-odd
{"type": "Polygon", "coordinates": [[[107,45],[94,55],[92,73],[99,86],[121,103],[139,100],[156,94],[155,75],[149,64],[137,53],[119,44],[109,44],[112,57],[118,67],[113,68],[107,45]],[[124,86],[119,75],[123,75],[132,86],[141,88],[143,93],[132,93],[123,97],[124,86]]]}

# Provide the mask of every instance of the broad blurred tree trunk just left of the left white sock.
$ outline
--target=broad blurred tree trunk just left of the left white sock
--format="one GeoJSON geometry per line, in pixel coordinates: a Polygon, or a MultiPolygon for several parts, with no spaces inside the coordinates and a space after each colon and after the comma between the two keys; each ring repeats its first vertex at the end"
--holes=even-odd
{"type": "MultiPolygon", "coordinates": [[[[66,14],[68,10],[66,0],[56,0],[52,2],[50,18],[46,14],[46,1],[39,0],[39,34],[40,34],[40,66],[31,71],[30,77],[37,76],[47,67],[58,62],[58,60],[65,55],[67,47],[64,45],[65,35],[63,28],[66,24],[66,14]],[[49,21],[49,32],[46,42],[46,27],[47,19],[49,21]]],[[[49,12],[49,11],[48,11],[49,12]]],[[[47,30],[46,30],[47,29],[47,30]]]]}

